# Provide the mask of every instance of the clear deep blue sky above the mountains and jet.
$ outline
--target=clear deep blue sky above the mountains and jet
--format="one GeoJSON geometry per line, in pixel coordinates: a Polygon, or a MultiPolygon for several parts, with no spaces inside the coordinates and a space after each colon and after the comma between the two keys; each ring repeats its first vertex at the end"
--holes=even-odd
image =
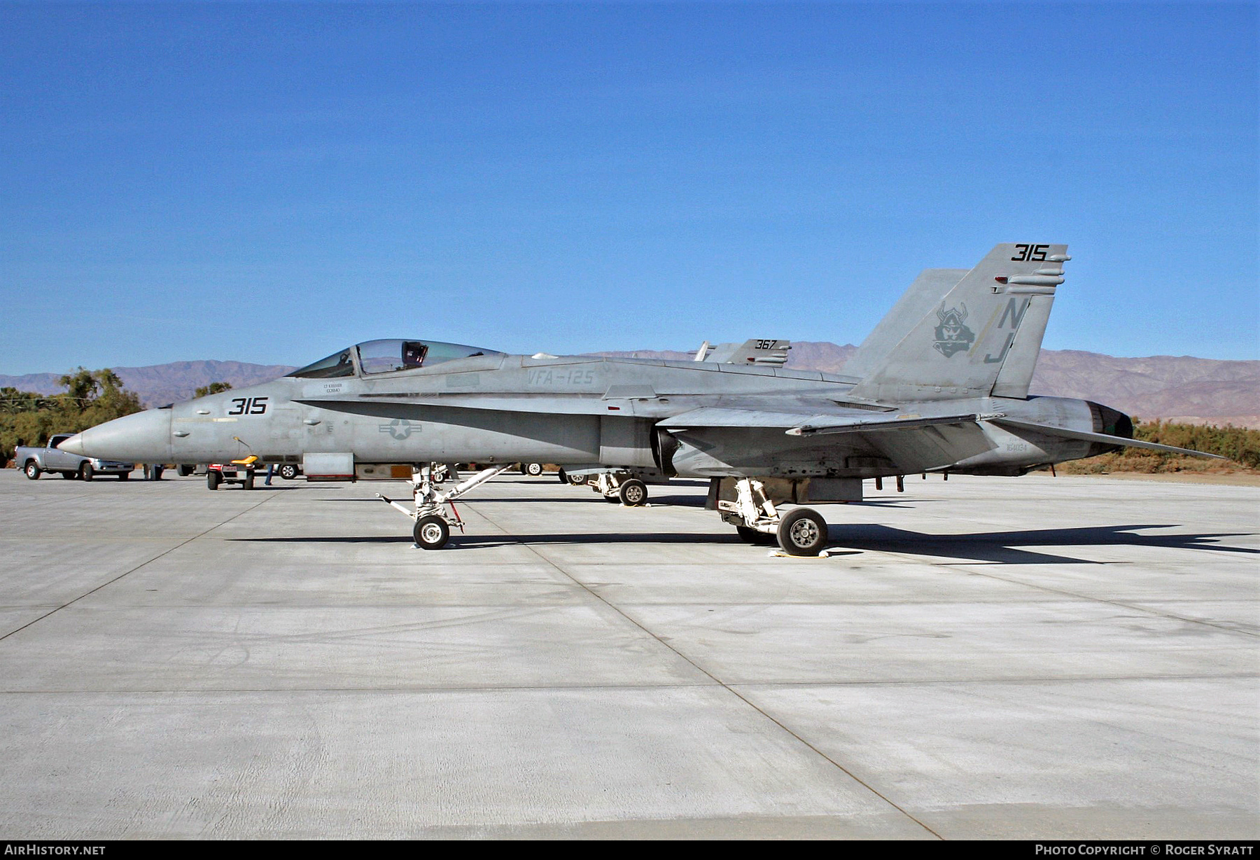
{"type": "Polygon", "coordinates": [[[1260,358],[1256,4],[0,3],[0,373],[861,342],[1067,242],[1046,347],[1260,358]]]}

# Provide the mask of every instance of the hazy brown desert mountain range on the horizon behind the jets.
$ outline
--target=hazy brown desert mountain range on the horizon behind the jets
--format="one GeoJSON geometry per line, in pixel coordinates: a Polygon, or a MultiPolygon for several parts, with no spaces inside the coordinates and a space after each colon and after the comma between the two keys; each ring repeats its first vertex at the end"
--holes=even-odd
{"type": "MultiPolygon", "coordinates": [[[[852,344],[793,343],[788,367],[843,373],[852,344]]],[[[600,356],[689,359],[694,352],[605,352],[600,356]]],[[[189,361],[145,367],[115,367],[123,385],[146,406],[188,400],[210,382],[233,387],[267,382],[292,371],[285,364],[189,361]]],[[[54,393],[60,373],[0,375],[0,387],[54,393]]],[[[1260,361],[1217,361],[1191,356],[1119,358],[1074,349],[1043,349],[1033,375],[1033,393],[1084,397],[1152,420],[1232,424],[1260,429],[1260,361]]]]}

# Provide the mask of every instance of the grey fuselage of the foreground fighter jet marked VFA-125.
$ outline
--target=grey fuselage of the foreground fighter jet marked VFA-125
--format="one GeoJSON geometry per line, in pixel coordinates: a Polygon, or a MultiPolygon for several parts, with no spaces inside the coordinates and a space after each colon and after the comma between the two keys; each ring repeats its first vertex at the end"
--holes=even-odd
{"type": "MultiPolygon", "coordinates": [[[[1100,450],[1096,443],[985,421],[822,436],[791,436],[781,426],[658,426],[702,407],[833,417],[887,414],[886,406],[850,400],[856,382],[775,367],[489,351],[373,371],[355,353],[335,376],[296,371],[265,385],[117,419],[63,446],[146,463],[246,454],[291,463],[307,454],[350,453],[355,463],[539,462],[655,467],[683,477],[853,478],[941,469],[1018,474],[1100,450]]],[[[945,398],[897,404],[896,410],[925,417],[1000,412],[1094,431],[1119,416],[1060,397],[945,398]]]]}

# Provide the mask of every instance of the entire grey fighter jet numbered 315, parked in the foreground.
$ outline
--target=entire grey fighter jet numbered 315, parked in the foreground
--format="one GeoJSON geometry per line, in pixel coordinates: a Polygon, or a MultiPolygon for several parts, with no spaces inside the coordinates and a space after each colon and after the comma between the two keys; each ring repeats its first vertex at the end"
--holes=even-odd
{"type": "MultiPolygon", "coordinates": [[[[853,502],[867,478],[1019,475],[1134,440],[1129,416],[1028,393],[1065,245],[998,245],[968,270],[929,269],[843,375],[757,363],[512,356],[425,339],[369,340],[289,376],[152,409],[62,448],[146,463],[248,449],[307,478],[410,478],[416,543],[438,549],[451,502],[517,463],[711,479],[708,504],[748,541],[816,555],[808,503],[853,502]],[[431,463],[489,464],[441,491],[431,463]]],[[[384,497],[382,497],[384,498],[384,497]]]]}

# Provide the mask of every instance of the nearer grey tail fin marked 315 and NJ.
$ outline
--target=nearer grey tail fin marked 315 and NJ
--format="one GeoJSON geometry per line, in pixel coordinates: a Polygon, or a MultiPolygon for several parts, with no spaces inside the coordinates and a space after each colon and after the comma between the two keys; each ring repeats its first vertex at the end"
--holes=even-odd
{"type": "Polygon", "coordinates": [[[915,298],[907,293],[862,344],[867,351],[872,338],[879,335],[868,351],[869,363],[858,364],[864,372],[849,371],[861,376],[852,396],[879,401],[951,400],[1021,388],[1022,393],[1002,396],[1027,395],[1051,300],[1055,288],[1063,282],[1067,259],[1066,245],[998,245],[944,298],[927,304],[926,282],[915,298]],[[902,303],[915,309],[917,319],[905,313],[902,303]],[[908,334],[879,356],[893,340],[897,324],[910,325],[908,334]],[[1024,334],[1017,338],[1021,330],[1024,334]]]}

